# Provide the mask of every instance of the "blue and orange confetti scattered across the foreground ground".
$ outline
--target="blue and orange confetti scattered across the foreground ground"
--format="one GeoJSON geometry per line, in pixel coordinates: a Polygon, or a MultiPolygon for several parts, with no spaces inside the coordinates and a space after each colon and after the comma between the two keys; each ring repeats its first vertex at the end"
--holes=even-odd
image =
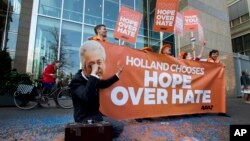
{"type": "MultiPolygon", "coordinates": [[[[217,115],[175,116],[126,120],[119,141],[215,141],[229,140],[231,119],[217,115]]],[[[72,115],[21,117],[0,121],[0,140],[63,141],[64,127],[72,115]]]]}

